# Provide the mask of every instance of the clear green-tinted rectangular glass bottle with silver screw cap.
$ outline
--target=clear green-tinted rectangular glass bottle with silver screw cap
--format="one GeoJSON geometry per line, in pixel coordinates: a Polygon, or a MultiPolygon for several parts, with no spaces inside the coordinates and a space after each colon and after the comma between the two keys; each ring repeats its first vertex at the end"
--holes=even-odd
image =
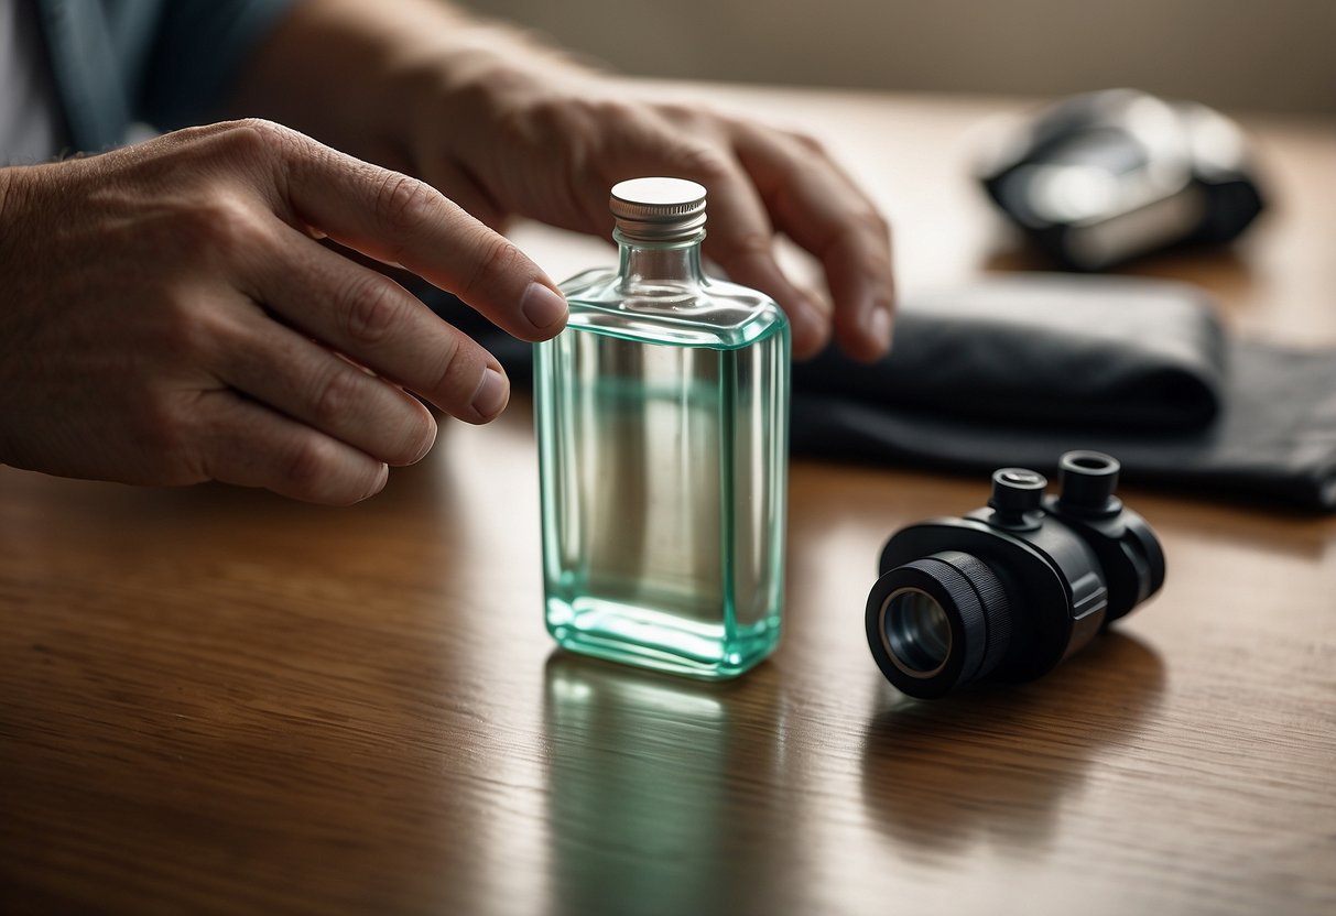
{"type": "Polygon", "coordinates": [[[790,331],[701,272],[705,190],[612,188],[620,267],[562,284],[537,345],[548,630],[573,652],[700,678],[780,634],[790,331]]]}

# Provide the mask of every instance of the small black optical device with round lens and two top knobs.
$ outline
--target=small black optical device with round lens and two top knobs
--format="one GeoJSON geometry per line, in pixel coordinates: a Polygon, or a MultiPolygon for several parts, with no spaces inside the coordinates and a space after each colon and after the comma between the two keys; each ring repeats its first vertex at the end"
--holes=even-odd
{"type": "Polygon", "coordinates": [[[867,598],[867,644],[882,673],[919,698],[1051,670],[1165,578],[1160,541],[1114,495],[1120,465],[1098,451],[1042,474],[1003,467],[989,505],[891,535],[867,598]]]}

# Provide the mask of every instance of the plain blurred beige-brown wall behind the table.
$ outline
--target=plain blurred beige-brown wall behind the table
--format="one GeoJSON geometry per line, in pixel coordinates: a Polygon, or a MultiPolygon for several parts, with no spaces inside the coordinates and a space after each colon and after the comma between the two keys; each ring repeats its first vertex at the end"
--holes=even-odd
{"type": "Polygon", "coordinates": [[[1336,0],[464,0],[623,72],[1336,113],[1336,0]]]}

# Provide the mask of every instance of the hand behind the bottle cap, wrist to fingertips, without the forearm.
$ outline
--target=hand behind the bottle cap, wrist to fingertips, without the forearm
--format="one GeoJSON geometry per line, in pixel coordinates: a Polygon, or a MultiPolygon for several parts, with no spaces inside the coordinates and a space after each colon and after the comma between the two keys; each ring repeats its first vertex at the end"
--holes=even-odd
{"type": "Polygon", "coordinates": [[[807,136],[656,101],[632,81],[536,55],[474,65],[462,87],[442,87],[417,112],[405,167],[493,227],[518,214],[607,238],[615,183],[695,179],[709,192],[705,252],[732,279],[779,302],[795,355],[820,351],[832,327],[858,359],[890,346],[888,226],[807,136]],[[784,275],[776,232],[819,258],[834,303],[784,275]]]}

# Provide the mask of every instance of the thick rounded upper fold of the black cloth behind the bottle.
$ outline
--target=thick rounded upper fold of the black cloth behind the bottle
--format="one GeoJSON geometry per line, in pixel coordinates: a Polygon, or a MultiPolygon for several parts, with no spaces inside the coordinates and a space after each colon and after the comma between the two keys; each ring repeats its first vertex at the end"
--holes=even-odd
{"type": "Polygon", "coordinates": [[[1224,334],[1196,287],[1001,276],[910,298],[888,357],[838,349],[795,387],[896,410],[1085,429],[1201,429],[1220,411],[1224,334]]]}

